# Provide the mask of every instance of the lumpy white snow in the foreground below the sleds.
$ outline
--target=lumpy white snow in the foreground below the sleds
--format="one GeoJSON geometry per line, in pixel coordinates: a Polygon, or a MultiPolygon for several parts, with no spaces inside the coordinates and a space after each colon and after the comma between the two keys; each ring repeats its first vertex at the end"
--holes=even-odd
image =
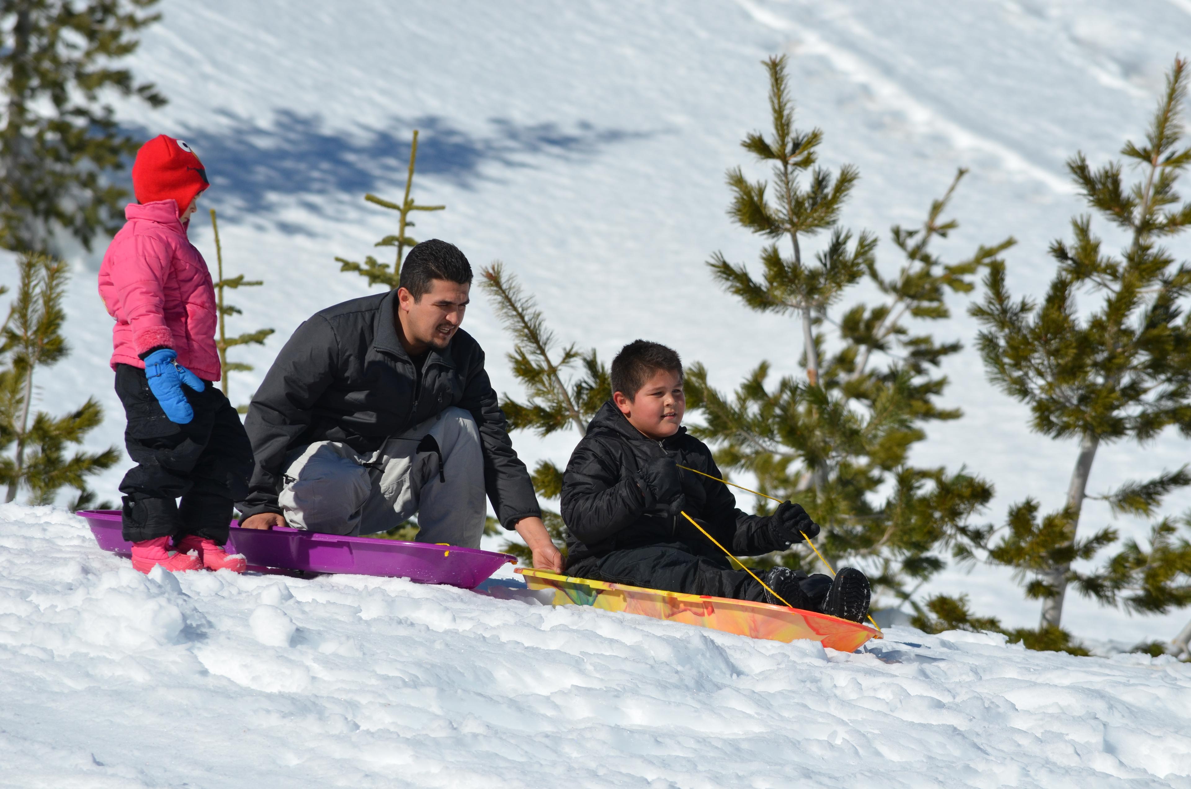
{"type": "Polygon", "coordinates": [[[0,785],[1191,787],[1191,665],[155,570],[0,507],[0,785]]]}

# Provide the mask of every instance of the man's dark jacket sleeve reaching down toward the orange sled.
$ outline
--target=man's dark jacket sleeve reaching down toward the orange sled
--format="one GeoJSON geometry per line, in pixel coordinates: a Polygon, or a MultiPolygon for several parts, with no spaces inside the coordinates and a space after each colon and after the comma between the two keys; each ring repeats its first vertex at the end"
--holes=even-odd
{"type": "Polygon", "coordinates": [[[479,362],[463,381],[463,398],[459,406],[468,410],[480,428],[484,489],[500,524],[512,529],[523,517],[542,517],[542,510],[537,505],[529,471],[513,451],[505,412],[500,410],[497,392],[484,368],[484,352],[476,348],[476,353],[479,362]]]}

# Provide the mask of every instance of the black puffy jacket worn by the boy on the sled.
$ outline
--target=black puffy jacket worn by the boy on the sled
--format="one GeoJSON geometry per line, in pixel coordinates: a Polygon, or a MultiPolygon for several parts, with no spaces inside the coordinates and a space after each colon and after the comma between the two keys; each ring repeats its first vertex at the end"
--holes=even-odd
{"type": "MultiPolygon", "coordinates": [[[[668,515],[666,503],[646,507],[644,483],[637,471],[663,454],[680,466],[722,477],[711,449],[688,435],[686,428],[654,441],[629,424],[613,403],[600,408],[562,476],[568,567],[621,548],[657,543],[681,543],[692,553],[723,558],[690,521],[668,515]]],[[[727,485],[681,468],[679,474],[687,502],[684,511],[734,554],[756,555],[787,547],[773,533],[768,517],[736,509],[736,498],[727,485]]]]}

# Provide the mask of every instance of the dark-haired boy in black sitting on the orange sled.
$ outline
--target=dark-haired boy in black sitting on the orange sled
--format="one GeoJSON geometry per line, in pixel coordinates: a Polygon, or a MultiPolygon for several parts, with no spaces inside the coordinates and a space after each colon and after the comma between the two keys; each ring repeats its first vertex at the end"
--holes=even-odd
{"type": "Polygon", "coordinates": [[[765,585],[684,515],[736,555],[785,551],[819,527],[798,504],[748,515],[719,482],[705,443],[682,425],[686,398],[679,355],[656,342],[630,342],[612,361],[612,399],[587,425],[562,477],[567,574],[691,595],[781,604],[860,622],[868,579],[844,567],[835,580],[774,567],[765,585]],[[716,479],[684,471],[686,466],[716,479]]]}

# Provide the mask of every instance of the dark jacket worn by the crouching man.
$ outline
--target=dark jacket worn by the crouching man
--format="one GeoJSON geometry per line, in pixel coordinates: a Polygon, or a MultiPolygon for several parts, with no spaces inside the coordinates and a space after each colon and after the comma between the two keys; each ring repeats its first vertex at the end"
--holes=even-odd
{"type": "MultiPolygon", "coordinates": [[[[484,369],[484,350],[462,329],[417,371],[397,337],[397,291],[366,296],[316,312],[294,331],[244,420],[256,467],[243,516],[280,512],[278,490],[291,453],[314,441],[342,441],[374,452],[451,405],[480,428],[484,483],[505,528],[540,516],[534,484],[517,458],[504,411],[484,369]]],[[[450,470],[445,470],[449,474],[450,470]]]]}

